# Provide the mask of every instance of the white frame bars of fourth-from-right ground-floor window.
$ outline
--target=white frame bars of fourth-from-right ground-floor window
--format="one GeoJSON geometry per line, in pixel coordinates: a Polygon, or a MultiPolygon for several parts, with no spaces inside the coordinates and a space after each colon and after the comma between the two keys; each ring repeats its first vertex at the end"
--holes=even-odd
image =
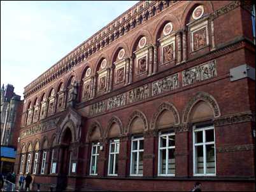
{"type": "Polygon", "coordinates": [[[110,153],[109,153],[109,158],[108,158],[108,175],[110,176],[117,176],[118,174],[113,174],[115,173],[115,165],[118,163],[118,158],[117,154],[119,154],[119,149],[120,149],[120,140],[119,139],[113,139],[110,141],[110,153]],[[114,144],[114,152],[111,152],[111,146],[114,144]],[[110,173],[110,158],[111,154],[113,154],[113,173],[110,173]]]}

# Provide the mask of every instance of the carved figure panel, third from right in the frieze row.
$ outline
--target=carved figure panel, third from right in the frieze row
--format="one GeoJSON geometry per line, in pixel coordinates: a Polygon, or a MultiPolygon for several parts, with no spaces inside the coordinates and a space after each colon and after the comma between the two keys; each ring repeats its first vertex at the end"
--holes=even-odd
{"type": "Polygon", "coordinates": [[[128,92],[128,102],[137,102],[139,100],[147,99],[149,96],[148,85],[139,86],[128,92]]]}

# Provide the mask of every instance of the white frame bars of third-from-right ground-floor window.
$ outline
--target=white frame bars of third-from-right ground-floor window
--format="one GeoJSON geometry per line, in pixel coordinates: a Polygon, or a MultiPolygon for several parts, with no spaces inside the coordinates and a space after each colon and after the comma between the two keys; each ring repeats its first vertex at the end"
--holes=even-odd
{"type": "MultiPolygon", "coordinates": [[[[138,174],[138,172],[139,172],[139,153],[140,152],[143,152],[144,153],[144,144],[143,144],[143,149],[139,149],[139,141],[144,141],[144,137],[138,137],[138,138],[136,138],[136,137],[132,137],[132,144],[131,144],[131,165],[130,165],[130,175],[131,176],[143,176],[143,170],[142,170],[142,174],[138,174]],[[138,145],[137,145],[137,149],[133,149],[133,142],[134,141],[137,141],[138,142],[138,145]],[[136,166],[137,166],[137,168],[136,168],[136,174],[132,174],[132,169],[133,169],[133,167],[132,167],[132,153],[136,153],[136,155],[137,155],[137,162],[136,162],[136,166]]],[[[143,160],[142,160],[143,161],[143,160]]]]}

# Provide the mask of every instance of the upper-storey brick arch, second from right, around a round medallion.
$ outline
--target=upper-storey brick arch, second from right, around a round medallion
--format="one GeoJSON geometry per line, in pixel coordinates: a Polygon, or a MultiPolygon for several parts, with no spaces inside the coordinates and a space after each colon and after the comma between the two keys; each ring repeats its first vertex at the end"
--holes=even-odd
{"type": "Polygon", "coordinates": [[[180,21],[178,20],[178,18],[174,15],[167,13],[163,17],[159,18],[158,24],[155,26],[155,29],[153,30],[153,43],[157,42],[160,30],[162,30],[164,28],[164,25],[168,22],[172,22],[173,31],[178,31],[180,29],[180,21]]]}

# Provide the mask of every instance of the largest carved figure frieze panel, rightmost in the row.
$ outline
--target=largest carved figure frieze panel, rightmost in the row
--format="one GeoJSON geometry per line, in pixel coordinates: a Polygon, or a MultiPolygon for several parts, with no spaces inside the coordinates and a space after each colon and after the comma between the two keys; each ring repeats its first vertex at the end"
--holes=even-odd
{"type": "Polygon", "coordinates": [[[191,85],[217,76],[216,60],[182,71],[182,85],[191,85]]]}

